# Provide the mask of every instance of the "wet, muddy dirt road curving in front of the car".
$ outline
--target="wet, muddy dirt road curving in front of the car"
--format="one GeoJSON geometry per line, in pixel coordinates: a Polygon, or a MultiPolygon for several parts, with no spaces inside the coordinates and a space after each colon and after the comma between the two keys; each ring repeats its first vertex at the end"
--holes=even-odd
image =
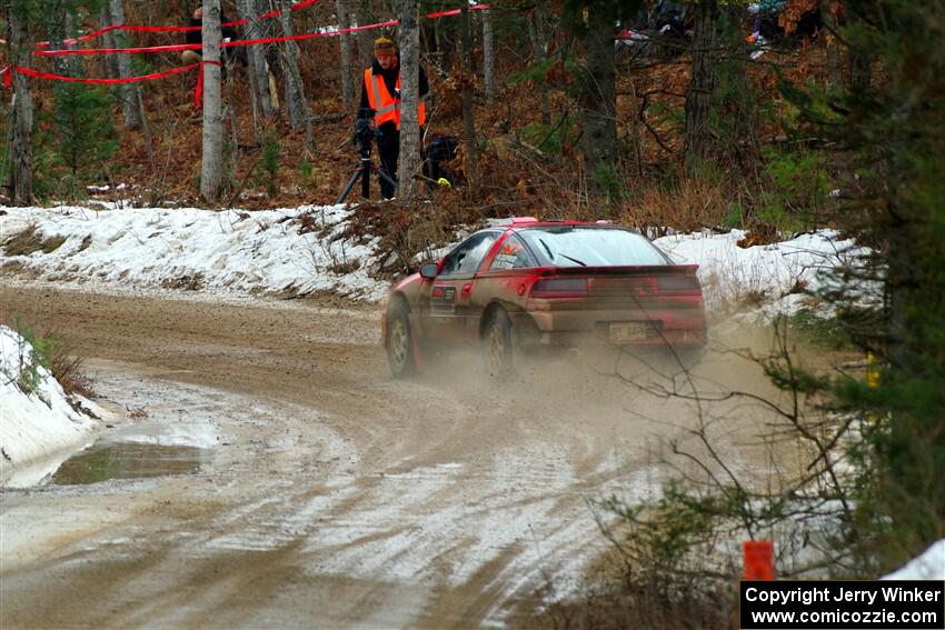
{"type": "Polygon", "coordinates": [[[172,422],[215,444],[190,473],[3,491],[4,629],[534,627],[606,548],[588,500],[657,491],[657,442],[692,422],[573,358],[395,381],[377,307],[0,304],[131,410],[106,439],[172,422]]]}

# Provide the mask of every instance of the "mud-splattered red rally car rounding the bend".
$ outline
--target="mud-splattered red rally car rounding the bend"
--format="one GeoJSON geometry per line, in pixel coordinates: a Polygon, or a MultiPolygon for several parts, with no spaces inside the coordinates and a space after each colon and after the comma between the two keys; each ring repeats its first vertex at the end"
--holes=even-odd
{"type": "Polygon", "coordinates": [[[606,223],[513,219],[462,241],[388,294],[381,338],[390,371],[480,347],[490,374],[517,351],[596,337],[679,353],[706,343],[697,264],[674,264],[639,233],[606,223]]]}

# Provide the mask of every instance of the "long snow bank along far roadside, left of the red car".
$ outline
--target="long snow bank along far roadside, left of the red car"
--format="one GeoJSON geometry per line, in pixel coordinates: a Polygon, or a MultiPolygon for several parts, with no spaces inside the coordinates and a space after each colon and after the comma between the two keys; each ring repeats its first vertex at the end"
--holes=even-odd
{"type": "Polygon", "coordinates": [[[374,241],[340,238],[355,210],[345,206],[215,212],[195,208],[90,210],[4,208],[7,239],[30,228],[52,251],[6,256],[39,280],[236,293],[331,290],[379,300],[368,274],[374,241]]]}

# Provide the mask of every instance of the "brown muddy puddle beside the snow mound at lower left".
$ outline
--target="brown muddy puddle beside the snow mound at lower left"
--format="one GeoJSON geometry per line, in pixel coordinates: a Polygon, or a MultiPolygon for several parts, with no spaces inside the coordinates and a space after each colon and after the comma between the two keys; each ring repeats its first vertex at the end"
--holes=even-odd
{"type": "Polygon", "coordinates": [[[212,460],[208,449],[137,442],[96,444],[62,462],[52,483],[78,486],[108,479],[193,474],[212,460]]]}

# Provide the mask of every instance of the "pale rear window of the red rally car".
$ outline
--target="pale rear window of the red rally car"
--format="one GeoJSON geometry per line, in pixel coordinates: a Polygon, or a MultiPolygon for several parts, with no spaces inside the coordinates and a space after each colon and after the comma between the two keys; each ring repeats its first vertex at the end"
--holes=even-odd
{"type": "Polygon", "coordinates": [[[644,237],[618,228],[561,226],[528,228],[518,232],[543,266],[621,267],[669,264],[644,237]]]}

